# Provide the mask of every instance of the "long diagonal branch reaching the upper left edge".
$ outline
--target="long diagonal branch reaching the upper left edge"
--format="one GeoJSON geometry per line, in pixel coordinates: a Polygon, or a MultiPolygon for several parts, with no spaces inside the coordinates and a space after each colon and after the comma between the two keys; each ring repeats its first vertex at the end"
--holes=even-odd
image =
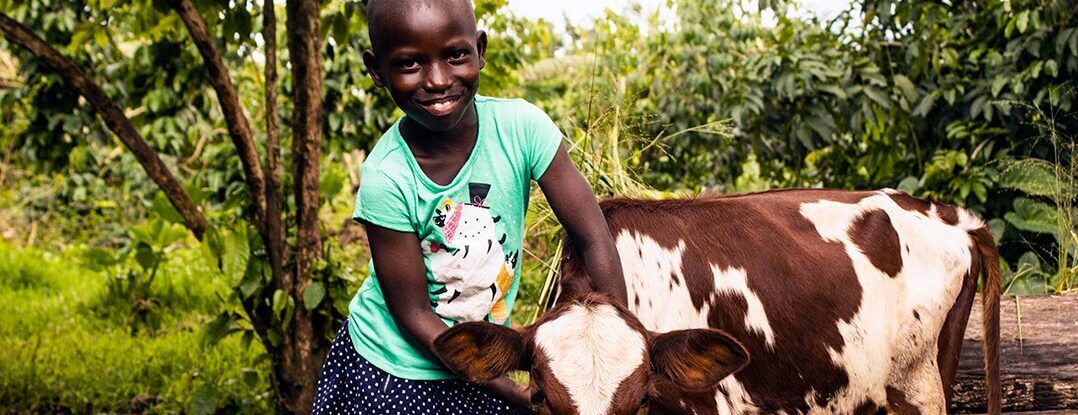
{"type": "Polygon", "coordinates": [[[183,217],[183,222],[191,233],[201,240],[203,234],[209,227],[206,218],[203,217],[202,211],[195,206],[194,200],[191,199],[188,192],[183,190],[180,182],[176,180],[172,172],[168,170],[168,167],[157,156],[157,152],[142,139],[138,129],[132,125],[130,120],[124,116],[124,111],[105,95],[101,87],[89,80],[70,59],[60,55],[59,52],[45,43],[45,41],[38,38],[37,34],[33,34],[25,26],[11,19],[11,17],[8,17],[3,13],[0,13],[0,31],[3,31],[4,38],[10,42],[23,46],[38,59],[52,67],[68,84],[89,101],[94,110],[105,120],[105,124],[109,129],[135,155],[135,160],[142,166],[142,169],[150,176],[150,179],[165,192],[168,202],[183,217]]]}

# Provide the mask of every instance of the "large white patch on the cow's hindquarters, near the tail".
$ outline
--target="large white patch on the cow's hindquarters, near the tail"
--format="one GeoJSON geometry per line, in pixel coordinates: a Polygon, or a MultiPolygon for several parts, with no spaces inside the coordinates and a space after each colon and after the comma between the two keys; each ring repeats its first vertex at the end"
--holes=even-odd
{"type": "MultiPolygon", "coordinates": [[[[849,413],[866,399],[886,402],[888,385],[903,389],[923,412],[943,407],[937,336],[970,266],[967,230],[948,225],[936,215],[904,210],[885,193],[857,204],[802,204],[801,215],[824,240],[843,244],[862,289],[857,314],[838,323],[844,346],[830,350],[834,363],[849,375],[849,386],[826,406],[817,406],[815,392],[808,393],[808,413],[849,413]],[[876,268],[848,235],[857,218],[875,209],[888,215],[898,234],[902,269],[894,278],[876,268]]],[[[959,210],[959,223],[975,222],[959,210]]]]}

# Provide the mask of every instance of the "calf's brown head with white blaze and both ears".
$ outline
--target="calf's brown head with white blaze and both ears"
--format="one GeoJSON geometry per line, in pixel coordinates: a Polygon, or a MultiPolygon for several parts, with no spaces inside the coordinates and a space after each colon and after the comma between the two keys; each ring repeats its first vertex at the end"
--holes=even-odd
{"type": "Polygon", "coordinates": [[[434,349],[471,382],[529,372],[540,414],[624,415],[648,405],[676,411],[688,396],[714,398],[719,382],[748,363],[745,347],[724,332],[652,333],[598,294],[563,303],[520,330],[456,324],[434,349]]]}

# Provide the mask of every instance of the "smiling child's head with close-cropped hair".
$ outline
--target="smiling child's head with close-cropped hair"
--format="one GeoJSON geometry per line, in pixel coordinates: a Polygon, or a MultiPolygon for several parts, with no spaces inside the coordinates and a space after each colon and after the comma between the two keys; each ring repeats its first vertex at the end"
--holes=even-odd
{"type": "Polygon", "coordinates": [[[363,54],[374,83],[389,89],[407,116],[431,132],[475,125],[472,109],[486,34],[462,8],[413,5],[379,25],[363,54]]]}

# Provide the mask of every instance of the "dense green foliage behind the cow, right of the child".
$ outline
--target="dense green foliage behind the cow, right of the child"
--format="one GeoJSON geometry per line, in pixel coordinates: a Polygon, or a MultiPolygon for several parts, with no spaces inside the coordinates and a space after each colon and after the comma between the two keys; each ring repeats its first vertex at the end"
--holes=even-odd
{"type": "Polygon", "coordinates": [[[897,188],[989,220],[1014,293],[1072,287],[1078,3],[860,1],[829,22],[675,5],[578,29],[523,72],[527,95],[567,128],[622,120],[659,189],[897,188]]]}

